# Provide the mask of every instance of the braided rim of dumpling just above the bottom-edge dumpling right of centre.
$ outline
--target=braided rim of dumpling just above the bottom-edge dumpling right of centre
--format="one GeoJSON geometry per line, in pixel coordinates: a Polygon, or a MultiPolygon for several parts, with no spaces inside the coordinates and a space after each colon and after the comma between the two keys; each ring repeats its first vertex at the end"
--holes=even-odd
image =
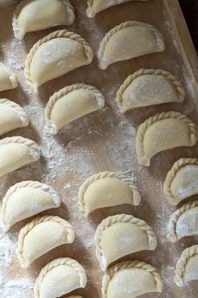
{"type": "Polygon", "coordinates": [[[149,240],[149,247],[150,250],[154,250],[157,246],[157,239],[155,236],[155,233],[152,230],[152,227],[149,226],[145,221],[142,221],[140,219],[136,219],[132,215],[126,215],[126,214],[119,214],[114,216],[109,216],[106,219],[104,219],[99,225],[95,233],[95,243],[96,243],[96,255],[99,261],[99,264],[101,268],[106,269],[104,267],[102,257],[103,257],[103,251],[101,246],[101,237],[102,233],[105,231],[106,228],[111,226],[112,224],[116,223],[131,223],[136,224],[141,228],[148,236],[149,240]]]}

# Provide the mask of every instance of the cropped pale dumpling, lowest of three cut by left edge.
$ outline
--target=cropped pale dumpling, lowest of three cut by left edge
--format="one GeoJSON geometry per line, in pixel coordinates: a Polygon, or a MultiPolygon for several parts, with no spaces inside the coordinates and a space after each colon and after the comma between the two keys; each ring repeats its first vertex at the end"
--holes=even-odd
{"type": "Polygon", "coordinates": [[[38,145],[22,137],[0,140],[0,176],[40,158],[38,145]]]}

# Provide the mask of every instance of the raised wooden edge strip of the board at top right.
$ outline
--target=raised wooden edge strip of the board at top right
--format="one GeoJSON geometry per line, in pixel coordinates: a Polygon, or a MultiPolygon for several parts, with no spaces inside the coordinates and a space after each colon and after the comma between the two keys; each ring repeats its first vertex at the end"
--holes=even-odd
{"type": "Polygon", "coordinates": [[[162,0],[171,27],[173,28],[178,48],[181,52],[186,71],[194,84],[198,95],[198,54],[191,38],[178,0],[162,0]]]}

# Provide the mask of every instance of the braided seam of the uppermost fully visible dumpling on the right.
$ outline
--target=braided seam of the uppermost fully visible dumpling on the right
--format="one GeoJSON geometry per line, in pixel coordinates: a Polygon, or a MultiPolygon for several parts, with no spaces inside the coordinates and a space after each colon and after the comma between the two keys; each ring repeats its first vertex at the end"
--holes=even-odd
{"type": "MultiPolygon", "coordinates": [[[[105,50],[107,42],[113,36],[113,34],[119,32],[122,29],[127,28],[127,27],[145,27],[149,30],[152,30],[154,34],[157,33],[157,34],[160,34],[162,36],[160,31],[157,30],[157,28],[155,26],[147,24],[147,23],[142,23],[142,22],[137,22],[137,21],[127,21],[127,22],[121,23],[120,25],[115,26],[109,32],[106,33],[106,35],[104,36],[104,38],[100,42],[99,52],[98,52],[98,61],[99,61],[99,68],[100,69],[104,69],[103,68],[103,54],[104,54],[104,50],[105,50]]],[[[162,38],[164,39],[163,36],[162,36],[162,38]]]]}

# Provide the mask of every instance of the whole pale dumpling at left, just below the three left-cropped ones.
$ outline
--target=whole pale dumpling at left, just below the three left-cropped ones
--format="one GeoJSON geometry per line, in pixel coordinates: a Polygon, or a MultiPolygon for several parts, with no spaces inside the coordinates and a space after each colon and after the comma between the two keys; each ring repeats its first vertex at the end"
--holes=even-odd
{"type": "Polygon", "coordinates": [[[2,204],[2,228],[7,231],[13,224],[50,208],[58,208],[61,199],[49,185],[38,181],[22,181],[10,187],[2,204]]]}

